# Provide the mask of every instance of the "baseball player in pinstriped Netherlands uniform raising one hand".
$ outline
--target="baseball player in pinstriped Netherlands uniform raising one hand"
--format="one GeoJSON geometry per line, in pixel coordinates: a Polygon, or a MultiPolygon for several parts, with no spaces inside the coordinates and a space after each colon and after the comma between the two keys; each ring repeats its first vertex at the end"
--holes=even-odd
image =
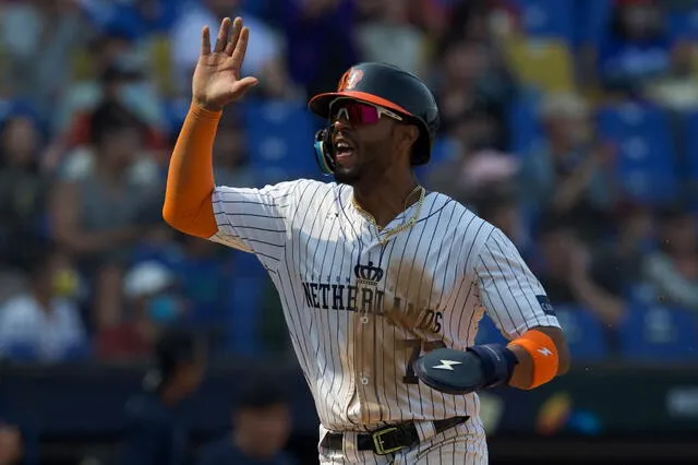
{"type": "Polygon", "coordinates": [[[203,29],[165,219],[268,271],[320,416],[322,464],[486,464],[477,391],[567,370],[545,291],[501,230],[418,183],[438,109],[392,65],[357,64],[310,100],[327,120],[315,154],[334,182],[215,186],[221,110],[257,83],[240,75],[248,38],[226,19],[212,50],[203,29]],[[474,345],[485,311],[506,346],[474,345]]]}

